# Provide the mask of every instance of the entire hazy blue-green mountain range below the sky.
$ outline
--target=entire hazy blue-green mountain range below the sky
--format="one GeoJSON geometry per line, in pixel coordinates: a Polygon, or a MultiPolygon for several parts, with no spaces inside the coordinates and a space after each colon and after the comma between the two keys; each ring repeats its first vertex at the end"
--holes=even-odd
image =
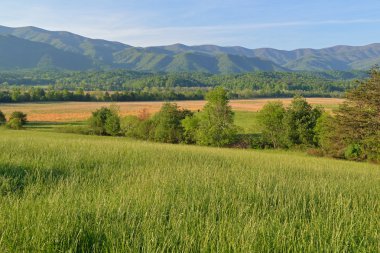
{"type": "Polygon", "coordinates": [[[182,44],[142,48],[70,32],[0,26],[0,70],[128,69],[216,74],[367,70],[379,63],[380,43],[292,51],[182,44]]]}

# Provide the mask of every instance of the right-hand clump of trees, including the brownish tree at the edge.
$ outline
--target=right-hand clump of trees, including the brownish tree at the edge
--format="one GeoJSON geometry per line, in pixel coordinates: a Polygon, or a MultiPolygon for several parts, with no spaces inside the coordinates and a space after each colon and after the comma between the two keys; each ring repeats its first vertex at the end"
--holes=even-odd
{"type": "Polygon", "coordinates": [[[333,114],[296,97],[287,109],[281,103],[267,104],[259,119],[263,145],[317,147],[324,155],[379,162],[380,71],[374,68],[333,114]]]}

